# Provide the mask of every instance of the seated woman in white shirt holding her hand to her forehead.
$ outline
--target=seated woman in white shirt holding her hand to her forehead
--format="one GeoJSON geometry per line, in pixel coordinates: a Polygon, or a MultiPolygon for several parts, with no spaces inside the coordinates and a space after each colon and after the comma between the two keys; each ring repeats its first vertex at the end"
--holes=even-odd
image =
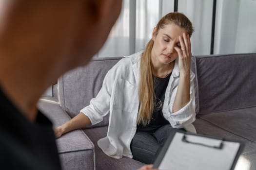
{"type": "Polygon", "coordinates": [[[100,122],[108,113],[104,153],[150,164],[174,128],[196,132],[195,94],[190,71],[193,27],[181,13],[169,13],[154,28],[144,51],[121,59],[111,68],[90,105],[55,129],[59,137],[100,122]]]}

